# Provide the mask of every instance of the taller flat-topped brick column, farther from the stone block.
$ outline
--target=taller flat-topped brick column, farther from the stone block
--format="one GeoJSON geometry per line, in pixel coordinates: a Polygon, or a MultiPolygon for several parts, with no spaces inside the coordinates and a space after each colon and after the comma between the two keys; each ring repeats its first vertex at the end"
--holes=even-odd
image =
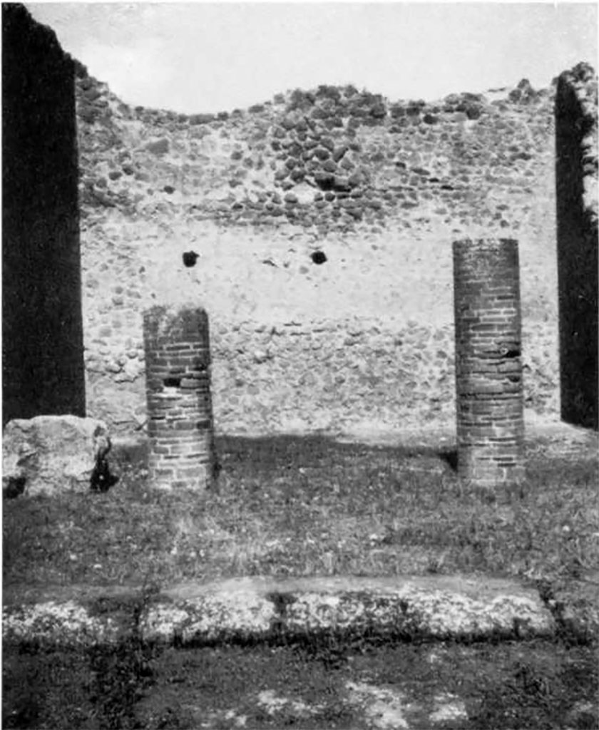
{"type": "Polygon", "coordinates": [[[524,477],[518,242],[454,242],[458,475],[484,489],[524,477]]]}

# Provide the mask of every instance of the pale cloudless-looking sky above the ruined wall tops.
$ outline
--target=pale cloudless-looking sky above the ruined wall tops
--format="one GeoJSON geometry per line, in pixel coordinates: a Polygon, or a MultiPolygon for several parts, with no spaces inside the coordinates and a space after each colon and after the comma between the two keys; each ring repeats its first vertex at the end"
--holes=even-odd
{"type": "Polygon", "coordinates": [[[218,112],[318,84],[390,99],[597,68],[595,3],[26,3],[129,104],[218,112]]]}

